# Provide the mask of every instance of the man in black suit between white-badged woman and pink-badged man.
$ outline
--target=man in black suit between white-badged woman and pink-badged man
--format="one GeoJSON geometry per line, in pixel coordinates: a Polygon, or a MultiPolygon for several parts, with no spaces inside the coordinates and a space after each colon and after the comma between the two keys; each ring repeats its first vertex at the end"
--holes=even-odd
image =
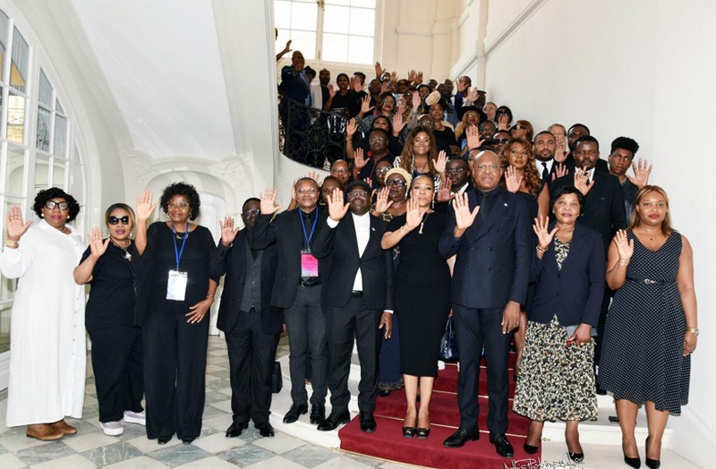
{"type": "MultiPolygon", "coordinates": [[[[260,200],[243,202],[241,218],[251,230],[260,213],[260,200]]],[[[234,422],[227,437],[238,437],[252,419],[261,436],[273,437],[268,422],[271,411],[271,371],[276,359],[278,338],[283,328],[283,311],[271,306],[271,289],[277,265],[276,245],[252,251],[245,231],[234,228],[234,218],[221,226],[221,243],[209,261],[209,275],[224,280],[218,309],[217,328],[226,335],[231,371],[231,410],[234,422]]]]}

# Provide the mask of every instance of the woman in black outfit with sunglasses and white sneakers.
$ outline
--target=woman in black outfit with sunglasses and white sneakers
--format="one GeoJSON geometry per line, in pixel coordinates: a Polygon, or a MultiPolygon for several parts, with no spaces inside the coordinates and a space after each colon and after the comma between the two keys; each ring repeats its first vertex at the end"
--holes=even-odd
{"type": "Polygon", "coordinates": [[[130,234],[134,211],[115,203],[105,211],[109,231],[92,228],[90,247],[74,269],[78,285],[90,284],[85,326],[92,340],[92,369],[95,373],[99,426],[107,435],[124,432],[124,422],[145,422],[141,328],[135,327],[134,271],[139,252],[130,234]]]}

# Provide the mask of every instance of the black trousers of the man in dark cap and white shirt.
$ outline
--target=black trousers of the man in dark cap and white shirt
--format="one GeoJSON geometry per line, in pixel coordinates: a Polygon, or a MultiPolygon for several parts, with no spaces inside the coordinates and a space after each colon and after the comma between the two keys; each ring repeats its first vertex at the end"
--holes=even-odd
{"type": "Polygon", "coordinates": [[[369,310],[362,297],[354,297],[344,307],[328,306],[326,332],[328,337],[328,388],[331,412],[347,412],[351,393],[348,375],[354,341],[361,362],[358,383],[358,409],[362,413],[375,410],[378,394],[378,354],[380,347],[380,316],[383,311],[369,310]]]}

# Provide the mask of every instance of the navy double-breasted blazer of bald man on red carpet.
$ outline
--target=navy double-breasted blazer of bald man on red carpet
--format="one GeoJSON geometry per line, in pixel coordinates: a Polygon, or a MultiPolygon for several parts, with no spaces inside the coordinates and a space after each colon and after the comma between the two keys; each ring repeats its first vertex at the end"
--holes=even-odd
{"type": "MultiPolygon", "coordinates": [[[[453,303],[473,309],[504,308],[508,301],[524,304],[534,248],[531,223],[524,200],[501,187],[495,189],[490,214],[478,213],[473,226],[460,238],[453,235],[455,212],[450,206],[440,254],[457,254],[453,269],[453,303]]],[[[469,192],[470,210],[477,192],[469,192]]]]}

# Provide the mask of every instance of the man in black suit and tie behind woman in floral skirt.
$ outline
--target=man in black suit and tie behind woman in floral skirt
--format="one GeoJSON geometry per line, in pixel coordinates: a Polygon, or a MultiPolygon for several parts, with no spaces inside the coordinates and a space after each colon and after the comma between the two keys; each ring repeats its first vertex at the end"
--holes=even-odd
{"type": "Polygon", "coordinates": [[[550,189],[554,194],[565,185],[574,185],[582,192],[584,210],[579,221],[600,232],[606,250],[617,231],[626,228],[624,193],[617,176],[595,167],[601,161],[597,139],[580,137],[575,141],[574,154],[575,171],[556,179],[550,189]]]}

